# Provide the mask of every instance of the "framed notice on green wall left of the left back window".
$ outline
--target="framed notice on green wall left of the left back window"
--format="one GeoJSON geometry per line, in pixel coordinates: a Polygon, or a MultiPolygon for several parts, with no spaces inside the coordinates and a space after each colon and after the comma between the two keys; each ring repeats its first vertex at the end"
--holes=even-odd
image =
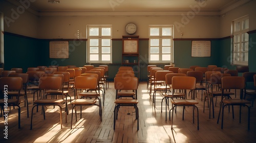
{"type": "Polygon", "coordinates": [[[69,58],[69,41],[50,41],[50,58],[69,58]]]}

